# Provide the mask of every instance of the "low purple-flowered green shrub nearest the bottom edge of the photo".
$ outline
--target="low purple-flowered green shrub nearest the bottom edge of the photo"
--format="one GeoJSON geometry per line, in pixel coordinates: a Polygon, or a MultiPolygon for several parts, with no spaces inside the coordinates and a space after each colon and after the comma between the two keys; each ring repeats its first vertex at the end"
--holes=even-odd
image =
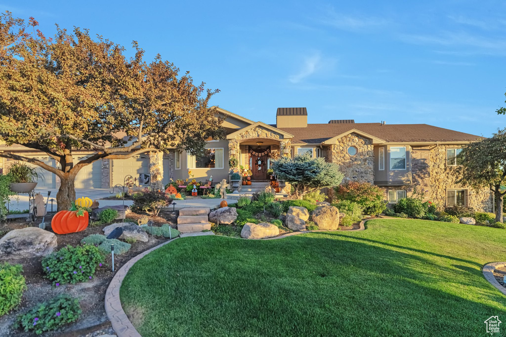
{"type": "Polygon", "coordinates": [[[19,315],[15,325],[26,332],[41,334],[75,322],[80,314],[78,299],[60,295],[47,302],[39,303],[27,313],[19,315]]]}

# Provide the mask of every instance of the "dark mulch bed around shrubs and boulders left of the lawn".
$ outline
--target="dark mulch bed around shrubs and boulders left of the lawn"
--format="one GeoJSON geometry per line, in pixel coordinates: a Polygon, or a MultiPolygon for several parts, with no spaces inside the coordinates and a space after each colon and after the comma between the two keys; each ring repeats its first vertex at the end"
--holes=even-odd
{"type": "MultiPolygon", "coordinates": [[[[160,226],[164,223],[169,223],[176,228],[176,219],[178,215],[176,212],[160,212],[157,217],[149,217],[149,220],[153,222],[153,225],[160,226]]],[[[46,216],[45,222],[51,223],[52,214],[46,216]]],[[[126,216],[128,219],[137,220],[142,215],[130,213],[126,216]]],[[[38,226],[41,218],[38,221],[31,224],[31,226],[38,226]]],[[[117,222],[120,222],[117,221],[117,222]]],[[[8,221],[5,224],[0,225],[0,233],[4,231],[19,229],[29,226],[28,222],[20,220],[8,221]]],[[[103,234],[102,228],[106,225],[97,227],[88,227],[78,233],[71,233],[65,235],[58,235],[58,249],[67,245],[77,246],[80,244],[80,240],[90,234],[103,234]]],[[[46,230],[51,231],[49,226],[46,230]]],[[[0,234],[1,235],[1,234],[0,234]]],[[[124,263],[128,262],[138,254],[162,244],[167,241],[166,238],[158,238],[149,235],[149,241],[136,242],[132,245],[131,249],[123,255],[114,256],[114,267],[117,271],[124,263]]],[[[43,276],[43,270],[41,267],[41,257],[34,257],[32,259],[24,260],[13,260],[12,263],[20,263],[23,265],[23,275],[26,278],[26,285],[28,289],[23,294],[23,300],[20,307],[11,312],[10,314],[0,317],[0,336],[31,336],[30,333],[25,333],[20,330],[13,329],[11,327],[16,316],[20,313],[27,311],[39,302],[50,300],[51,298],[59,294],[68,294],[74,297],[80,298],[80,307],[82,314],[79,319],[63,329],[46,333],[48,336],[84,336],[84,335],[97,335],[97,331],[103,331],[100,334],[112,333],[110,322],[107,318],[104,309],[104,297],[107,287],[114,276],[112,272],[111,256],[106,257],[106,262],[103,267],[99,268],[95,274],[95,278],[90,282],[82,282],[76,284],[63,284],[58,287],[51,285],[51,282],[45,279],[43,276]],[[111,331],[111,332],[108,332],[111,331]]],[[[114,334],[114,333],[112,333],[114,334]]]]}

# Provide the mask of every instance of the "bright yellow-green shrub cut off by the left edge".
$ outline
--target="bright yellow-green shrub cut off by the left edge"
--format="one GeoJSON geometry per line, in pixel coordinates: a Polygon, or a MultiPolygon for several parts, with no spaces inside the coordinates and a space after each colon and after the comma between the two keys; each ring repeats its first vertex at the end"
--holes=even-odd
{"type": "Polygon", "coordinates": [[[0,316],[17,308],[26,290],[23,266],[0,263],[0,316]]]}

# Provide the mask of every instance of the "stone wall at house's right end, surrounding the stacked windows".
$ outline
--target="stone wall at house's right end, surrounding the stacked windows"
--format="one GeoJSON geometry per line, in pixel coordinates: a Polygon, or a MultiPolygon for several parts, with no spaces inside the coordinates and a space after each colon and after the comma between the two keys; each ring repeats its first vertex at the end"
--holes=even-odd
{"type": "Polygon", "coordinates": [[[439,145],[430,150],[430,182],[431,199],[438,206],[446,206],[447,189],[467,189],[468,206],[477,211],[492,211],[492,196],[488,188],[474,190],[462,187],[455,182],[455,176],[451,172],[451,166],[446,165],[446,149],[455,149],[455,146],[439,145]]]}

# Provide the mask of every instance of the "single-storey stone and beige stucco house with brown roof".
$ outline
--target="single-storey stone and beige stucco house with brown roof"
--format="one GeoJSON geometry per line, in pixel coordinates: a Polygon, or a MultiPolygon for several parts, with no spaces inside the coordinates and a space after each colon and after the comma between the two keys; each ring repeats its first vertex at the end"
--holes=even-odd
{"type": "MultiPolygon", "coordinates": [[[[253,180],[267,179],[271,160],[279,156],[309,153],[340,165],[346,180],[370,182],[385,191],[385,200],[395,203],[410,196],[414,188],[438,205],[462,205],[491,211],[490,191],[474,190],[455,183],[451,173],[460,148],[479,136],[427,124],[355,123],[354,120],[330,120],[326,124],[308,124],[306,108],[278,108],[276,124],[251,121],[218,108],[226,116],[225,139],[209,139],[205,154],[195,158],[185,152],[150,153],[127,160],[102,160],[89,165],[76,177],[76,187],[110,188],[122,183],[127,174],[151,174],[151,182],[167,183],[170,178],[197,181],[213,176],[214,181],[228,179],[229,159],[248,166],[253,180]]],[[[38,156],[40,153],[14,146],[0,151],[38,156]]],[[[90,152],[74,153],[76,160],[90,152]]],[[[44,158],[43,158],[44,157],[44,158]]],[[[9,163],[0,158],[0,167],[9,163]],[[2,162],[3,160],[3,162],[2,162]]],[[[54,165],[54,162],[53,162],[54,165]]],[[[45,174],[43,186],[57,187],[57,178],[45,174]]]]}

